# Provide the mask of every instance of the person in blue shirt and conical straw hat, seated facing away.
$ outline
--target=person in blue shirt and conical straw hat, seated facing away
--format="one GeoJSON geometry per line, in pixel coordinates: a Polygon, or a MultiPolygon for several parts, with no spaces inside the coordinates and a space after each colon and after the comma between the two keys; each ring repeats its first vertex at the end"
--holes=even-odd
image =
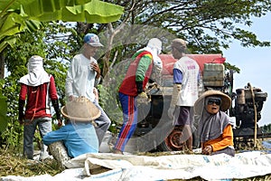
{"type": "Polygon", "coordinates": [[[69,158],[98,153],[94,120],[100,117],[101,112],[96,105],[84,97],[74,98],[61,108],[61,114],[69,119],[66,125],[42,138],[52,156],[63,166],[69,158]]]}

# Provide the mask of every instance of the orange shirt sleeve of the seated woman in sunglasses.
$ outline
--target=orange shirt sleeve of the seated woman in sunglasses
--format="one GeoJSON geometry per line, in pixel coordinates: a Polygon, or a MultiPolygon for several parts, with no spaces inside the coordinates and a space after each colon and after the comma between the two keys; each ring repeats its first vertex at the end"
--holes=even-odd
{"type": "MultiPolygon", "coordinates": [[[[219,151],[223,148],[233,146],[233,132],[231,125],[229,124],[224,130],[222,135],[219,138],[211,139],[203,143],[203,148],[210,145],[212,151],[219,151]]],[[[202,149],[203,149],[202,148],[202,149]]]]}

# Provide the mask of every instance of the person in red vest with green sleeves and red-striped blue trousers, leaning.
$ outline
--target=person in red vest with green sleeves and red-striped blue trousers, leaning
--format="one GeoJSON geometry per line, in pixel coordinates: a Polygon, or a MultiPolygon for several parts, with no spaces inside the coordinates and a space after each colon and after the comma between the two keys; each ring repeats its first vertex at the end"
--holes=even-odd
{"type": "Polygon", "coordinates": [[[158,57],[162,50],[162,42],[157,38],[148,41],[145,48],[138,50],[132,56],[126,71],[126,77],[118,90],[118,99],[123,111],[123,126],[118,134],[117,142],[113,149],[116,154],[123,154],[126,143],[135,132],[137,124],[137,108],[135,101],[147,100],[145,86],[149,80],[154,66],[162,68],[158,57]],[[136,99],[135,99],[136,98],[136,99]]]}

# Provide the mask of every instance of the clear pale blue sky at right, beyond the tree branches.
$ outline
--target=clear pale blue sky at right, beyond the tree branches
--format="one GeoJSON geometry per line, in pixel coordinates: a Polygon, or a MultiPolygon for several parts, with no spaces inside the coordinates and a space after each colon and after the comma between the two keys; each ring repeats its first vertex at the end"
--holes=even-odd
{"type": "MultiPolygon", "coordinates": [[[[247,30],[256,33],[258,40],[271,42],[271,14],[253,18],[252,21],[252,26],[247,30]]],[[[229,47],[223,50],[223,56],[226,62],[240,69],[239,74],[234,74],[233,90],[244,89],[249,82],[252,87],[267,92],[258,126],[271,124],[271,47],[245,48],[237,41],[229,44],[229,47]]]]}

